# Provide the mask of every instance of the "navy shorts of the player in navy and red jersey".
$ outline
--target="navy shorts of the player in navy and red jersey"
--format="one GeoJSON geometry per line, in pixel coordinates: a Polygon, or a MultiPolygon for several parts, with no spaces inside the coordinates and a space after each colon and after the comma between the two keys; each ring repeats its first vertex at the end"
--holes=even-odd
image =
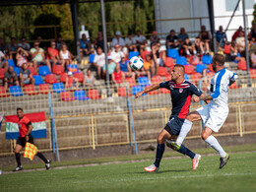
{"type": "Polygon", "coordinates": [[[170,135],[178,135],[185,119],[178,118],[177,116],[170,116],[164,129],[170,135]]]}

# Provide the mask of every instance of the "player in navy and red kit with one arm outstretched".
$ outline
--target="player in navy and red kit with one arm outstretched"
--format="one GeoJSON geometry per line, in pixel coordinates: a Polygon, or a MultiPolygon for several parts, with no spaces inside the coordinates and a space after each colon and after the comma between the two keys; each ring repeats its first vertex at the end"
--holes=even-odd
{"type": "Polygon", "coordinates": [[[200,155],[194,154],[183,145],[180,145],[177,148],[173,145],[170,145],[172,143],[171,140],[175,140],[180,132],[181,126],[184,123],[186,115],[189,111],[190,100],[192,96],[205,96],[193,84],[184,80],[184,73],[185,70],[183,65],[175,65],[171,72],[170,81],[146,88],[145,90],[136,95],[136,97],[139,97],[145,93],[152,92],[160,88],[170,90],[170,97],[172,103],[171,115],[169,117],[169,121],[160,132],[158,138],[157,157],[154,164],[144,168],[148,172],[159,170],[160,160],[165,148],[164,142],[166,142],[166,145],[172,148],[174,151],[190,157],[192,160],[193,169],[197,168],[199,160],[201,158],[200,155]]]}

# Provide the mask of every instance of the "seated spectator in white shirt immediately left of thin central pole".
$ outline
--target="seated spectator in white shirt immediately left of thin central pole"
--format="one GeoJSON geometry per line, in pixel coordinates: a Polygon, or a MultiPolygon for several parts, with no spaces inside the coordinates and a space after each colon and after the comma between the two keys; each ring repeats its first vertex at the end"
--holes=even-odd
{"type": "Polygon", "coordinates": [[[105,65],[105,53],[102,52],[101,46],[98,46],[96,48],[96,56],[93,62],[93,66],[96,67],[96,74],[98,79],[101,78],[101,70],[104,65],[105,65]]]}

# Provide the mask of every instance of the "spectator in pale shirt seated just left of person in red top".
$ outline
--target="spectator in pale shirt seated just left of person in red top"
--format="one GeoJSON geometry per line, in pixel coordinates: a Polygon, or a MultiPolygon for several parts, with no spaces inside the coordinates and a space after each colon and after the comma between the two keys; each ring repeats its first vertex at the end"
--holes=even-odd
{"type": "Polygon", "coordinates": [[[32,65],[35,71],[37,71],[38,65],[47,65],[51,72],[50,63],[47,60],[45,60],[44,50],[39,47],[39,42],[35,41],[33,43],[33,47],[31,48],[30,52],[32,55],[32,65]]]}

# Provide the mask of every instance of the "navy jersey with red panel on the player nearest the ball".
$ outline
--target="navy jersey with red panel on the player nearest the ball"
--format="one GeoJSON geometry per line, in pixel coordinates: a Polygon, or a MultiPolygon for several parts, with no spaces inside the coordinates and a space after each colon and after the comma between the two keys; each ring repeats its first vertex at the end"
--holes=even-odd
{"type": "Polygon", "coordinates": [[[190,100],[193,95],[201,96],[203,93],[193,84],[184,81],[181,84],[175,84],[174,81],[160,83],[160,88],[170,91],[172,110],[171,116],[186,118],[189,112],[190,100]]]}

